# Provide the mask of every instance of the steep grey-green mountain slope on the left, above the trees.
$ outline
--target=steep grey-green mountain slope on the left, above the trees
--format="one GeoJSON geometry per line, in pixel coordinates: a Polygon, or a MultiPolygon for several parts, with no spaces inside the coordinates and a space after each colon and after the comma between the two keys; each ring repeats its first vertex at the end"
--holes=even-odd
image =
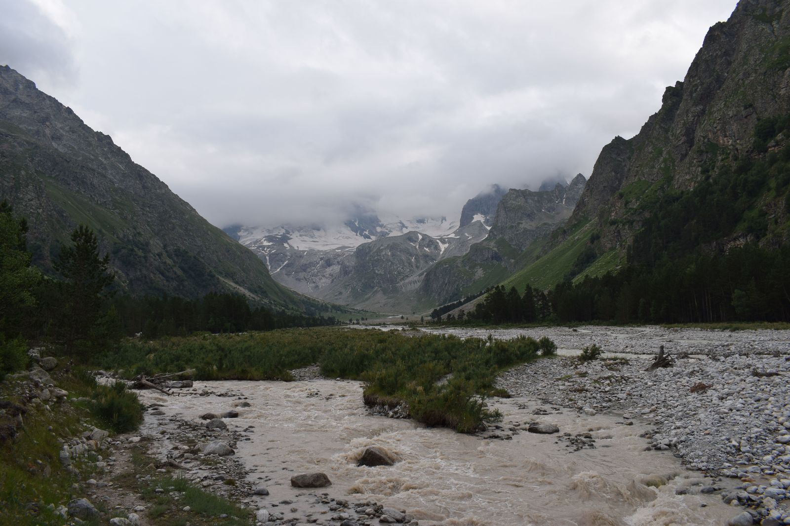
{"type": "Polygon", "coordinates": [[[59,243],[87,224],[132,293],[235,291],[277,306],[304,300],[111,137],[8,66],[0,66],[0,199],[27,217],[34,260],[46,270],[59,243]]]}

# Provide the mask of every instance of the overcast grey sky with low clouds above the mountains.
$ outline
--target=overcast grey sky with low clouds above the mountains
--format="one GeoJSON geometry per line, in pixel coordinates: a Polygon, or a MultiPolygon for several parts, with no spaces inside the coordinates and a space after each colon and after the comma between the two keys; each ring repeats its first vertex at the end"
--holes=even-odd
{"type": "Polygon", "coordinates": [[[220,227],[589,176],[735,0],[0,0],[0,64],[220,227]]]}

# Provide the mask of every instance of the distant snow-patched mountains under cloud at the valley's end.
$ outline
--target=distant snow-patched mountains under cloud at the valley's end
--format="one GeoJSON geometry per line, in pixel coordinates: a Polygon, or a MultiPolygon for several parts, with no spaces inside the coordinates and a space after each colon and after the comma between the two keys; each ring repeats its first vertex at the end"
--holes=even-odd
{"type": "Polygon", "coordinates": [[[341,305],[408,312],[460,294],[466,269],[437,286],[428,277],[434,265],[464,257],[491,232],[521,246],[513,236],[532,239],[566,220],[585,178],[577,175],[570,185],[552,182],[547,192],[492,185],[466,202],[460,221],[382,220],[366,211],[336,224],[235,225],[226,231],[258,254],[275,280],[295,291],[341,305]]]}

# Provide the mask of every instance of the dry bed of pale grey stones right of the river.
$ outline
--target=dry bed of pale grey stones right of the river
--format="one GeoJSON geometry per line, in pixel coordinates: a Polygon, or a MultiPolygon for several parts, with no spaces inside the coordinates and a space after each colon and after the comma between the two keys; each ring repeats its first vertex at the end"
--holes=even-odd
{"type": "MultiPolygon", "coordinates": [[[[434,332],[434,331],[431,331],[434,332]]],[[[449,329],[459,336],[547,335],[563,354],[598,344],[610,359],[558,357],[516,367],[498,386],[651,427],[650,449],[671,451],[690,470],[718,477],[705,487],[747,506],[754,524],[790,524],[790,331],[660,327],[449,329]],[[664,347],[674,366],[645,371],[664,347]],[[626,358],[623,358],[626,356],[626,358]]],[[[747,517],[742,517],[747,523],[747,517]]],[[[751,523],[749,523],[751,524],[751,523]]]]}

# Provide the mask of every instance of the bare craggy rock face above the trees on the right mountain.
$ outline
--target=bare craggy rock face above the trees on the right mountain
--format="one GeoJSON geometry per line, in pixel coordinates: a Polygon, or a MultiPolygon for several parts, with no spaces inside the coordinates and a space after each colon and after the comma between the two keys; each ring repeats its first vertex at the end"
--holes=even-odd
{"type": "MultiPolygon", "coordinates": [[[[640,132],[604,146],[570,223],[595,220],[604,246],[624,246],[640,227],[636,210],[645,196],[690,190],[737,156],[764,155],[754,147],[757,123],[790,113],[788,39],[790,2],[739,2],[728,21],[709,29],[686,77],[666,88],[640,132]]],[[[787,219],[770,197],[764,207],[775,219],[769,227],[787,219]]]]}

